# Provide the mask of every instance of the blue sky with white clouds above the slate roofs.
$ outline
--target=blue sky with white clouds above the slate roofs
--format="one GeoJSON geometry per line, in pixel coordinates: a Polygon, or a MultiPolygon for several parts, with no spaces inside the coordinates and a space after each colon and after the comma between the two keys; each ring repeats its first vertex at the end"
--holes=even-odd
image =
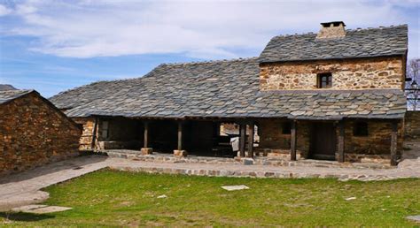
{"type": "Polygon", "coordinates": [[[420,1],[0,0],[0,84],[49,97],[161,63],[254,57],[277,34],[408,24],[420,57],[420,1]]]}

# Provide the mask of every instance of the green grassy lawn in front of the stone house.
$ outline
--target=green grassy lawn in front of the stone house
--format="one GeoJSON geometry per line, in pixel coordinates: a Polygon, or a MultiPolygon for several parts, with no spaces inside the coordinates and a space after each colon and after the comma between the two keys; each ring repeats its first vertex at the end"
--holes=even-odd
{"type": "Polygon", "coordinates": [[[45,189],[49,205],[74,209],[12,214],[0,226],[413,226],[420,179],[238,179],[97,171],[45,189]],[[224,185],[246,185],[228,192],[224,185]],[[161,194],[167,198],[158,199],[161,194]],[[355,200],[346,201],[348,197],[355,200]]]}

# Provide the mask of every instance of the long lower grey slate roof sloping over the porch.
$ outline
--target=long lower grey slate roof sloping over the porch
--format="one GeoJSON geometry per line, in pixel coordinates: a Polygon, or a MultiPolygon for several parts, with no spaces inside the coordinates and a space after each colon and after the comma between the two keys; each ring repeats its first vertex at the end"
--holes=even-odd
{"type": "Polygon", "coordinates": [[[142,78],[100,81],[51,97],[69,117],[402,118],[400,90],[260,92],[256,57],[159,65],[142,78]]]}

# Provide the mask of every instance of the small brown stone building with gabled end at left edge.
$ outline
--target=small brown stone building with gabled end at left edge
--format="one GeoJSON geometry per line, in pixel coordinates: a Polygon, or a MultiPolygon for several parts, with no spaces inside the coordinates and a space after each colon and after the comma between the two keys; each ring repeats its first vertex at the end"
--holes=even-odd
{"type": "Polygon", "coordinates": [[[0,90],[0,175],[78,155],[81,128],[35,90],[0,90]]]}

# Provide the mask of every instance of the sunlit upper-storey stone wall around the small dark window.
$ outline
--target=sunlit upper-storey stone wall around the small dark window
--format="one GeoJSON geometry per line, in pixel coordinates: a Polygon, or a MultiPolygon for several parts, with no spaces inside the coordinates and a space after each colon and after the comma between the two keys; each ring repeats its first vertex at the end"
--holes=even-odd
{"type": "Polygon", "coordinates": [[[402,89],[403,63],[401,57],[378,57],[261,64],[260,87],[319,89],[317,73],[331,72],[332,87],[326,89],[402,89]]]}

